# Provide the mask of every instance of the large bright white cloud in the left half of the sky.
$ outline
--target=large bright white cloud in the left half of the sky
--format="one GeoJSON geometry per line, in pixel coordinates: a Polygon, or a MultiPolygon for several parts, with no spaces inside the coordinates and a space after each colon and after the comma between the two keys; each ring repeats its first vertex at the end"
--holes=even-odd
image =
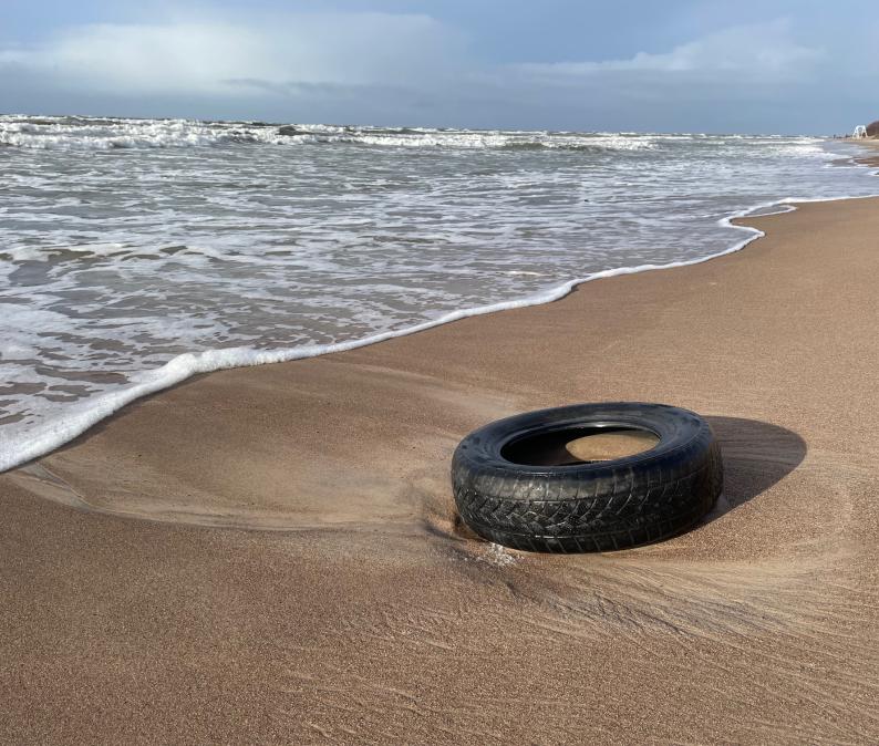
{"type": "Polygon", "coordinates": [[[73,27],[38,45],[0,50],[0,70],[65,91],[286,94],[291,82],[414,85],[459,58],[461,35],[427,15],[287,13],[73,27]]]}

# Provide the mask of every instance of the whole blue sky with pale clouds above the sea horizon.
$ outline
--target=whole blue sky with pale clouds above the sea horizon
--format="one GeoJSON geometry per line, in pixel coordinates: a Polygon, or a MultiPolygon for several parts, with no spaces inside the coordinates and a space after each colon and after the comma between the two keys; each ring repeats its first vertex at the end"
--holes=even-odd
{"type": "Polygon", "coordinates": [[[0,113],[830,134],[877,49],[860,0],[0,0],[0,113]]]}

